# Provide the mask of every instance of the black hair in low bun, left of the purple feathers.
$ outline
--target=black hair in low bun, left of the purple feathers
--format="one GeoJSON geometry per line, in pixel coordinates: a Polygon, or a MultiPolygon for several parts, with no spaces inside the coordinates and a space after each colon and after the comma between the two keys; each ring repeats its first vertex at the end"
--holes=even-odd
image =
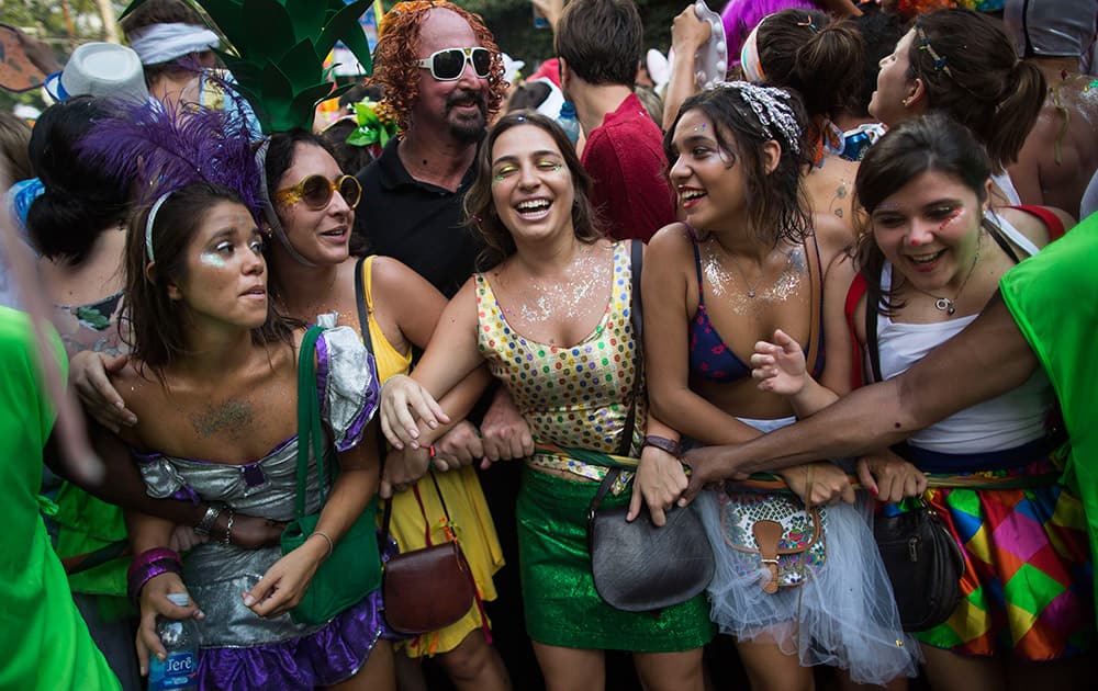
{"type": "Polygon", "coordinates": [[[108,101],[77,97],[47,107],[27,147],[45,188],[26,214],[34,247],[49,259],[79,264],[99,236],[130,216],[130,184],[121,171],[78,156],[97,123],[115,116],[108,101]]]}

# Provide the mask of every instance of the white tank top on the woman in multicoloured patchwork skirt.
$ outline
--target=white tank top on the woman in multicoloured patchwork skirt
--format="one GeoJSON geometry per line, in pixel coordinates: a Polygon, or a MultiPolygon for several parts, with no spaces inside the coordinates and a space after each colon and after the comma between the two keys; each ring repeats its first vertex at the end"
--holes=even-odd
{"type": "MultiPolygon", "coordinates": [[[[1013,226],[999,216],[996,223],[1005,236],[1030,254],[1038,251],[1013,226]]],[[[892,287],[892,264],[885,262],[881,287],[892,287]]],[[[885,315],[877,316],[877,349],[881,374],[886,380],[907,371],[937,346],[956,336],[976,315],[939,324],[903,324],[885,315]]],[[[979,376],[979,373],[972,373],[979,376]]],[[[1044,370],[1038,367],[1021,386],[1006,394],[965,408],[941,422],[911,435],[914,446],[939,453],[979,453],[1013,449],[1045,434],[1049,411],[1055,403],[1052,385],[1044,370]]]]}

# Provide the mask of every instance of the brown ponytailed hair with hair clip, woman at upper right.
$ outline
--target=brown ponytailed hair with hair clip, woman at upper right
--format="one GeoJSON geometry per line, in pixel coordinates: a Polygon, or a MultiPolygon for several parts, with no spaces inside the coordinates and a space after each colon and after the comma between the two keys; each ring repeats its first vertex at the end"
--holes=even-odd
{"type": "Polygon", "coordinates": [[[916,20],[908,78],[921,79],[931,110],[965,125],[987,148],[993,170],[1018,160],[1044,104],[1047,83],[993,20],[939,10],[916,20]]]}

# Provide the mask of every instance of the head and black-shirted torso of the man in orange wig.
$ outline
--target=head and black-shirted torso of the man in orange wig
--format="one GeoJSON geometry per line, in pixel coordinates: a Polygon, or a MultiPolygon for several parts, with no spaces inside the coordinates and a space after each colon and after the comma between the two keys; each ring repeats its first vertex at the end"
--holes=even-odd
{"type": "Polygon", "coordinates": [[[461,202],[477,174],[489,114],[503,100],[503,64],[488,29],[460,8],[437,2],[434,9],[397,5],[395,12],[385,16],[373,80],[403,136],[357,175],[363,196],[355,234],[371,252],[399,259],[451,297],[474,271],[482,247],[462,223],[461,202]],[[432,57],[474,47],[488,48],[491,61],[432,57]],[[408,65],[410,56],[429,66],[408,65]]]}

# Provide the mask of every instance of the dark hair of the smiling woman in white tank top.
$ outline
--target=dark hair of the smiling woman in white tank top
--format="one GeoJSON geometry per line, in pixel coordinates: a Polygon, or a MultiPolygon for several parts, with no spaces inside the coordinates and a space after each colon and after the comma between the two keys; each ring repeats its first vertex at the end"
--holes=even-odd
{"type": "MultiPolygon", "coordinates": [[[[854,179],[854,194],[865,209],[864,227],[860,228],[855,246],[859,270],[871,285],[881,284],[885,257],[872,233],[873,212],[925,172],[938,172],[960,181],[972,190],[983,204],[987,199],[985,184],[991,175],[991,162],[975,134],[944,113],[928,113],[906,120],[881,137],[865,152],[854,179]]],[[[988,234],[1000,236],[999,228],[985,216],[982,225],[988,234]]],[[[904,306],[894,297],[903,283],[893,280],[893,290],[881,295],[881,314],[892,316],[904,306]]]]}

